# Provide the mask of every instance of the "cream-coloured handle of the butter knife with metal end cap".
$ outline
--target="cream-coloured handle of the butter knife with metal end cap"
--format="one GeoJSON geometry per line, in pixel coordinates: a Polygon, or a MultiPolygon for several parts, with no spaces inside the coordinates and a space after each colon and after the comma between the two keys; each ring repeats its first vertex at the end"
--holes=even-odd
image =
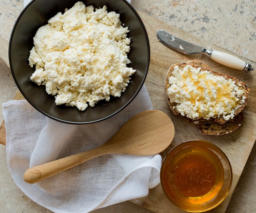
{"type": "Polygon", "coordinates": [[[250,64],[247,64],[245,61],[228,53],[212,50],[209,57],[214,61],[223,64],[227,67],[231,67],[238,70],[244,70],[245,72],[253,70],[250,64]]]}

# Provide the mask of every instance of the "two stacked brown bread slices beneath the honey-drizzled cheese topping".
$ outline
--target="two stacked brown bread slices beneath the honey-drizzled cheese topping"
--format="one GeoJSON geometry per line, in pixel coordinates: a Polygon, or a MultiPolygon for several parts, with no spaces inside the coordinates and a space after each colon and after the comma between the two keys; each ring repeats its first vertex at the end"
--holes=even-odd
{"type": "Polygon", "coordinates": [[[187,61],[184,63],[180,63],[180,64],[174,64],[170,67],[170,69],[167,72],[167,76],[166,76],[166,82],[165,82],[165,90],[166,90],[166,96],[167,96],[167,101],[168,104],[170,106],[170,108],[172,109],[173,113],[175,115],[180,115],[183,118],[185,118],[188,122],[196,125],[196,127],[200,130],[200,132],[202,134],[208,134],[208,135],[222,135],[222,134],[227,134],[230,132],[233,132],[235,129],[237,129],[238,127],[241,126],[241,123],[243,122],[244,119],[244,115],[242,110],[244,109],[245,105],[248,102],[248,93],[249,93],[249,89],[247,88],[247,85],[243,82],[240,82],[237,78],[229,76],[229,75],[225,75],[219,72],[215,72],[213,70],[211,70],[205,63],[203,63],[202,61],[199,60],[191,60],[191,61],[187,61]],[[236,110],[236,112],[234,113],[234,118],[230,119],[228,121],[224,120],[223,118],[212,118],[209,120],[200,118],[197,120],[192,120],[188,117],[182,116],[176,108],[177,103],[171,103],[170,99],[168,97],[167,94],[167,89],[171,86],[169,84],[169,77],[172,76],[172,72],[174,70],[175,66],[179,66],[179,68],[182,70],[183,68],[186,67],[186,65],[191,65],[194,68],[198,68],[200,67],[201,70],[208,70],[210,71],[212,74],[217,75],[217,76],[223,76],[226,79],[232,79],[234,82],[236,82],[236,85],[239,87],[239,89],[242,89],[244,91],[244,96],[246,96],[245,99],[245,103],[241,105],[240,108],[238,108],[236,110]],[[240,85],[241,86],[240,86],[240,85]],[[175,108],[174,108],[175,107],[175,108]]]}

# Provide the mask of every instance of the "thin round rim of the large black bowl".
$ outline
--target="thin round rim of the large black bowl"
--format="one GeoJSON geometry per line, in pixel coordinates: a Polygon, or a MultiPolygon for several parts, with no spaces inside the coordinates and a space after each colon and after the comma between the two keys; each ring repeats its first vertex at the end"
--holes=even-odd
{"type": "MultiPolygon", "coordinates": [[[[29,104],[31,106],[33,106],[33,108],[35,108],[37,111],[39,111],[40,113],[44,114],[45,116],[51,118],[51,119],[54,119],[56,121],[59,121],[59,122],[62,122],[62,123],[67,123],[67,124],[77,124],[77,125],[80,125],[80,124],[89,124],[89,123],[96,123],[96,122],[99,122],[99,121],[103,121],[107,118],[110,118],[112,117],[113,115],[117,114],[118,112],[122,111],[125,107],[127,107],[133,100],[134,98],[138,95],[138,93],[141,91],[144,83],[145,83],[145,80],[146,80],[146,77],[147,77],[147,74],[148,74],[148,71],[149,71],[149,65],[150,65],[150,43],[149,43],[149,36],[148,36],[148,33],[147,33],[147,30],[145,28],[145,25],[141,19],[141,17],[139,16],[139,14],[137,13],[137,11],[133,8],[133,6],[127,2],[126,0],[120,0],[120,1],[123,1],[126,5],[128,5],[130,7],[130,9],[134,12],[134,14],[136,15],[136,17],[138,18],[142,28],[143,28],[143,32],[145,34],[145,37],[146,37],[146,42],[147,42],[147,48],[148,48],[148,53],[147,53],[147,66],[146,66],[146,72],[143,76],[143,79],[142,79],[142,82],[141,82],[141,85],[139,86],[139,88],[137,89],[137,91],[134,93],[134,95],[132,96],[132,98],[126,103],[124,104],[122,107],[120,107],[118,110],[116,110],[115,112],[111,113],[110,115],[108,116],[105,116],[103,118],[100,118],[100,119],[97,119],[97,120],[94,120],[94,121],[86,121],[86,122],[73,122],[73,121],[66,121],[66,120],[63,120],[63,119],[60,119],[60,118],[56,118],[52,115],[49,115],[48,113],[42,111],[41,109],[37,108],[32,101],[30,101],[26,94],[22,91],[20,85],[18,84],[18,81],[15,77],[15,74],[14,74],[14,71],[13,71],[13,67],[12,67],[12,62],[11,62],[11,44],[12,44],[12,39],[13,39],[13,34],[14,34],[14,31],[15,31],[15,28],[20,20],[20,18],[22,17],[22,15],[24,14],[24,12],[27,10],[27,8],[34,2],[34,1],[37,1],[37,0],[32,0],[30,1],[23,9],[22,11],[20,12],[19,16],[17,17],[14,25],[13,25],[13,28],[12,28],[12,31],[11,31],[11,35],[10,35],[10,39],[9,39],[9,46],[8,46],[8,57],[9,57],[9,65],[10,65],[10,69],[11,69],[11,73],[12,73],[12,77],[15,81],[15,84],[17,85],[18,87],[18,90],[21,92],[21,94],[24,96],[24,98],[29,102],[29,104]]],[[[77,0],[78,1],[78,0],[77,0]]]]}

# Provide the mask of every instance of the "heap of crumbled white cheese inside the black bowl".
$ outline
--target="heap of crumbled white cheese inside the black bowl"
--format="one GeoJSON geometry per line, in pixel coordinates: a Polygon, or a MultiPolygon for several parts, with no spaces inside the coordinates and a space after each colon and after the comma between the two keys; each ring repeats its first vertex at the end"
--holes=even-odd
{"type": "Polygon", "coordinates": [[[135,70],[130,63],[129,32],[119,14],[77,2],[38,29],[29,65],[30,79],[45,85],[57,105],[85,110],[110,96],[120,97],[135,70]]]}

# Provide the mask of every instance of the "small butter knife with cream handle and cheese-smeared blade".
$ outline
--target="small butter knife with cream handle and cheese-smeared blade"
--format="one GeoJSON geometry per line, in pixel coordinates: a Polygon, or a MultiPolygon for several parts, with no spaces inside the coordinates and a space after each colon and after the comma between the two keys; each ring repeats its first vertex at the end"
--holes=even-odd
{"type": "Polygon", "coordinates": [[[187,55],[204,53],[208,55],[209,58],[227,67],[231,67],[238,70],[244,70],[245,72],[253,70],[250,64],[244,62],[243,60],[233,55],[217,50],[207,50],[196,44],[192,44],[180,38],[177,38],[171,35],[170,33],[166,32],[165,30],[159,30],[157,32],[157,38],[165,46],[173,50],[176,50],[180,53],[184,53],[187,55]]]}

